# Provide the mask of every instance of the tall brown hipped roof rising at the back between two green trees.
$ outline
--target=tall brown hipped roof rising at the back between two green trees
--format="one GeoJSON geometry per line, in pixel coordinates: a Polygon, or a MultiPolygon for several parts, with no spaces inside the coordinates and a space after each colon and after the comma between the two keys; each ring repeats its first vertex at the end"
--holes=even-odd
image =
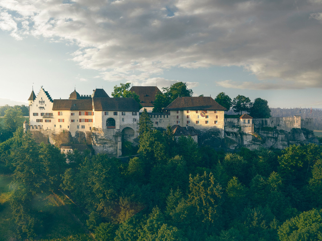
{"type": "Polygon", "coordinates": [[[135,92],[143,107],[153,107],[157,93],[162,93],[156,86],[132,86],[130,91],[135,92]]]}

